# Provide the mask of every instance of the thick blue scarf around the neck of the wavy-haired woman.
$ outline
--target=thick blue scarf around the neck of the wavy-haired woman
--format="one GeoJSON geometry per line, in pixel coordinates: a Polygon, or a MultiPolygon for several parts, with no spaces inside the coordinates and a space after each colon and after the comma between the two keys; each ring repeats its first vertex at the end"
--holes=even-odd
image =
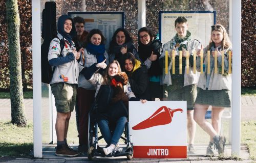
{"type": "Polygon", "coordinates": [[[105,45],[100,44],[100,45],[94,45],[91,42],[86,45],[87,51],[92,53],[93,55],[96,56],[97,62],[100,63],[104,61],[104,52],[105,52],[105,45]]]}

